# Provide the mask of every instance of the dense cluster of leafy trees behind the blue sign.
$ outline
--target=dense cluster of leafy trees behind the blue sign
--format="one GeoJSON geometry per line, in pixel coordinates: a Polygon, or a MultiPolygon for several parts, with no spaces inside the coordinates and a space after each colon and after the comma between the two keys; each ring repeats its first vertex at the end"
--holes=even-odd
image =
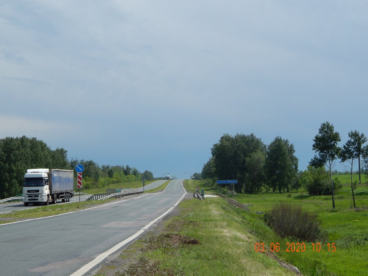
{"type": "Polygon", "coordinates": [[[238,180],[234,185],[238,193],[253,194],[262,188],[289,192],[296,188],[298,159],[288,139],[277,136],[266,146],[253,133],[224,134],[211,153],[212,157],[203,166],[202,177],[213,181],[238,180]]]}

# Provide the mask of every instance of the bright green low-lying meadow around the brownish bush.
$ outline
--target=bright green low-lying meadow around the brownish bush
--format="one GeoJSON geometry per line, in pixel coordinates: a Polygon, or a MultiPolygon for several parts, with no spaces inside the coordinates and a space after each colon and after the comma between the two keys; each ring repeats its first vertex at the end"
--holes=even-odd
{"type": "MultiPolygon", "coordinates": [[[[190,180],[188,186],[196,186],[199,181],[190,180]]],[[[202,184],[202,183],[201,183],[202,184]]],[[[202,184],[202,188],[209,184],[202,184]]],[[[208,189],[213,191],[216,186],[208,189]]],[[[207,192],[207,191],[206,191],[207,192]]],[[[336,243],[336,252],[313,252],[311,243],[309,250],[300,254],[280,252],[278,255],[285,261],[297,266],[305,275],[367,275],[368,274],[368,190],[366,185],[358,185],[355,194],[354,209],[350,185],[346,185],[335,195],[335,210],[332,210],[331,196],[309,196],[306,192],[295,191],[290,194],[263,192],[257,195],[238,194],[235,199],[243,204],[251,204],[252,212],[267,212],[276,202],[291,202],[301,204],[305,209],[317,213],[323,230],[328,231],[328,240],[336,243]]],[[[262,215],[253,219],[263,223],[262,215]]],[[[263,223],[262,227],[251,230],[259,241],[267,244],[280,243],[285,247],[286,240],[278,237],[263,223]]],[[[295,242],[295,241],[290,241],[295,242]]],[[[321,241],[323,243],[323,241],[321,241]]],[[[283,248],[285,249],[285,248],[283,248]]]]}

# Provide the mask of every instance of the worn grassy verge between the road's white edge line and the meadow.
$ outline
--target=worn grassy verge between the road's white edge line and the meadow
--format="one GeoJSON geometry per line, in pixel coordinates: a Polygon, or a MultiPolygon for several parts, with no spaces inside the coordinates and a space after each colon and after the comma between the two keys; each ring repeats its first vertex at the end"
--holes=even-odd
{"type": "MultiPolygon", "coordinates": [[[[253,214],[223,198],[188,199],[179,206],[180,215],[164,233],[149,233],[132,245],[142,254],[127,275],[294,275],[255,252],[256,238],[247,230],[253,214]]],[[[120,258],[131,256],[124,251],[120,258]]]]}

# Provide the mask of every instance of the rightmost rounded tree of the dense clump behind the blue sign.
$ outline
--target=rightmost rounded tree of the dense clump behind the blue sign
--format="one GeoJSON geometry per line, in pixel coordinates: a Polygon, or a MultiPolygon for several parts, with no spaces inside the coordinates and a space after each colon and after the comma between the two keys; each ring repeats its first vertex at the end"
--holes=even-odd
{"type": "Polygon", "coordinates": [[[279,192],[286,188],[289,192],[289,185],[296,180],[298,172],[298,159],[294,155],[295,149],[289,141],[277,136],[268,146],[266,153],[266,177],[272,191],[278,187],[279,192]]]}

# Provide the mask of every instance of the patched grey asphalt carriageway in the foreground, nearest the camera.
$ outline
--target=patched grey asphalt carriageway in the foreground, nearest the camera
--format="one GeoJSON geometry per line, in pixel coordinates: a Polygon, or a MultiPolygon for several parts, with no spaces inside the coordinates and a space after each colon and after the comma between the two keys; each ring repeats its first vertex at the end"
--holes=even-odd
{"type": "Polygon", "coordinates": [[[171,210],[184,194],[182,180],[173,180],[163,192],[0,225],[0,275],[82,275],[109,254],[106,251],[119,244],[117,250],[171,210]]]}

